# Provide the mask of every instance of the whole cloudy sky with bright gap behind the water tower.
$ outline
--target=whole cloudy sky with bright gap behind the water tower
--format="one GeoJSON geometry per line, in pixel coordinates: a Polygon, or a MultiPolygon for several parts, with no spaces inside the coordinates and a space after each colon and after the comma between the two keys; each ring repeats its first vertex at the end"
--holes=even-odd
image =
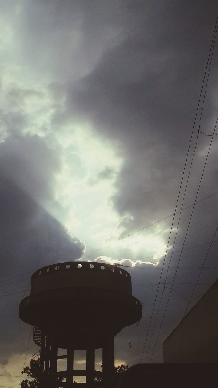
{"type": "Polygon", "coordinates": [[[217,42],[194,125],[217,2],[0,4],[0,375],[18,376],[0,383],[18,386],[38,350],[19,302],[56,262],[127,265],[143,316],[116,336],[116,365],[163,362],[218,277],[217,42]]]}

